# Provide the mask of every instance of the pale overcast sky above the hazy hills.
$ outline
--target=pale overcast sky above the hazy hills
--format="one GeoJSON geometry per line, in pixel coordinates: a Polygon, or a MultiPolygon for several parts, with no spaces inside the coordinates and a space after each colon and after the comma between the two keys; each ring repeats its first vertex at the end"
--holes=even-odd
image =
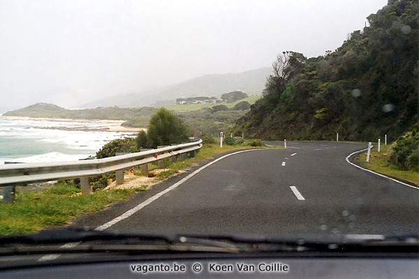
{"type": "Polygon", "coordinates": [[[335,50],[387,0],[0,0],[0,112],[335,50]]]}

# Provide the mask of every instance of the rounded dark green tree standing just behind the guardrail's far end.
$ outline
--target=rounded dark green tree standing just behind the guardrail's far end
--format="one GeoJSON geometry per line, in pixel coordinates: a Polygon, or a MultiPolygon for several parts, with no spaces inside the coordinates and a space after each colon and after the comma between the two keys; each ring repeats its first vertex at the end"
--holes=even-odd
{"type": "Polygon", "coordinates": [[[189,139],[189,127],[179,117],[161,107],[149,121],[147,146],[179,144],[189,139]]]}

